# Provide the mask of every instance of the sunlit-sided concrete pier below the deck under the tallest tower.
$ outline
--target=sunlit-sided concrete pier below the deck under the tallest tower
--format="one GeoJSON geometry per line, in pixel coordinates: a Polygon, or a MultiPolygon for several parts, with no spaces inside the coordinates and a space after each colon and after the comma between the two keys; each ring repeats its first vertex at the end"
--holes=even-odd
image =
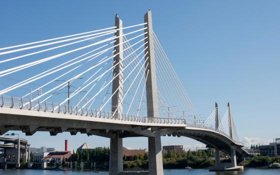
{"type": "Polygon", "coordinates": [[[148,137],[148,167],[149,175],[163,175],[160,132],[148,137]]]}

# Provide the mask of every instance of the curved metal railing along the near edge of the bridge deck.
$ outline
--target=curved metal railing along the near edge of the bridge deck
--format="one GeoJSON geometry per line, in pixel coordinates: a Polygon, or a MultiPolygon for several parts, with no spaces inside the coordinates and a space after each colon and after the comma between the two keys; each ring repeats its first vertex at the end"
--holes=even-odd
{"type": "Polygon", "coordinates": [[[185,119],[181,118],[157,118],[147,116],[136,116],[131,114],[113,113],[106,110],[98,110],[93,108],[82,108],[79,105],[59,104],[55,102],[32,100],[22,97],[14,97],[0,95],[0,107],[20,108],[28,110],[37,110],[44,112],[67,113],[72,115],[82,115],[90,117],[99,117],[107,119],[118,119],[145,123],[168,123],[168,124],[186,124],[185,119]]]}

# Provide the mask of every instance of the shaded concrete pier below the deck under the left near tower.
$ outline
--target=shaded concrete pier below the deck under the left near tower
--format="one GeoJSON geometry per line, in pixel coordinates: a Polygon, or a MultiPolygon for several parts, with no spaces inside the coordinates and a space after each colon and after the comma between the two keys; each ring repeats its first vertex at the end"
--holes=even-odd
{"type": "Polygon", "coordinates": [[[122,156],[122,138],[110,138],[109,175],[117,175],[123,171],[122,156]]]}

